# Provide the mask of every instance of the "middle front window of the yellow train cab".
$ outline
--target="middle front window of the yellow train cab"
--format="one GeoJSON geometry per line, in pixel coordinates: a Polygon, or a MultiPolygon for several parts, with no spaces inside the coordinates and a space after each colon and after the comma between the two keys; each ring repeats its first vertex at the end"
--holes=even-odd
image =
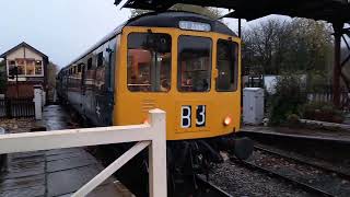
{"type": "Polygon", "coordinates": [[[180,92],[207,92],[210,90],[211,39],[179,36],[177,61],[177,89],[180,92]]]}

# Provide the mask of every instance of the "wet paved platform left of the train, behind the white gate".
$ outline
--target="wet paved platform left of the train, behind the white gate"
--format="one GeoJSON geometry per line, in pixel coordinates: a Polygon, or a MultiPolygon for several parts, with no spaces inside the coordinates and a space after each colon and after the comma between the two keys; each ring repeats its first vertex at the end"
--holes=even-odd
{"type": "MultiPolygon", "coordinates": [[[[51,105],[45,107],[43,120],[34,125],[42,125],[48,131],[67,129],[71,127],[69,119],[60,106],[51,105]]],[[[25,126],[18,125],[15,128],[22,128],[20,131],[28,131],[23,127],[25,126]]],[[[19,132],[19,129],[12,131],[19,132]]],[[[70,196],[103,169],[98,161],[83,148],[12,153],[8,155],[5,171],[0,175],[0,196],[70,196]]],[[[116,178],[109,177],[88,196],[131,197],[133,195],[116,178]]]]}

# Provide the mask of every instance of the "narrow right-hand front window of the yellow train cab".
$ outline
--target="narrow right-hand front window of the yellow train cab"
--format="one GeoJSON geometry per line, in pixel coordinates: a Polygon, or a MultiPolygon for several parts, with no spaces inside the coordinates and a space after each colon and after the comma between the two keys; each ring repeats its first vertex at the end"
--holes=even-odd
{"type": "Polygon", "coordinates": [[[233,92],[237,90],[237,44],[219,39],[217,54],[217,91],[233,92]]]}

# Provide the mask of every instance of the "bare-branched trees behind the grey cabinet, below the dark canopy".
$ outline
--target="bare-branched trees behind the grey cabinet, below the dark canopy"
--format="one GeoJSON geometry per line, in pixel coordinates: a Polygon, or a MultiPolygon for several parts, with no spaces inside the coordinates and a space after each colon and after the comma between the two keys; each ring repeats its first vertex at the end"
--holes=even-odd
{"type": "Polygon", "coordinates": [[[244,68],[264,74],[325,71],[331,62],[331,28],[325,22],[272,19],[245,30],[243,42],[244,68]]]}

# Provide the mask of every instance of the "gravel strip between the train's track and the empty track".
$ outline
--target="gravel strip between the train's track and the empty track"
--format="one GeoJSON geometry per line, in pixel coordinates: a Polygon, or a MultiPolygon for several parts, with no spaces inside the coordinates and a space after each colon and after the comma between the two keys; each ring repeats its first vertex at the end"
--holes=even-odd
{"type": "Polygon", "coordinates": [[[259,172],[250,171],[232,162],[224,162],[214,167],[210,181],[233,196],[269,196],[269,197],[308,197],[301,188],[269,177],[259,172]]]}

